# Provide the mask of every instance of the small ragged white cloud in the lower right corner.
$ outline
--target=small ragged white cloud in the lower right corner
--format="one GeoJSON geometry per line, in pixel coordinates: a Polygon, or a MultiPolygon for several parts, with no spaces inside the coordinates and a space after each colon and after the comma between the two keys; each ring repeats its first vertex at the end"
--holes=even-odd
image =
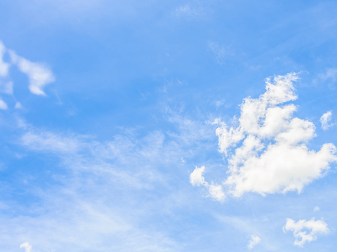
{"type": "Polygon", "coordinates": [[[315,218],[312,218],[310,221],[300,220],[298,222],[287,218],[283,231],[293,231],[293,236],[296,238],[293,245],[303,247],[305,242],[315,241],[317,235],[327,234],[329,228],[324,221],[315,221],[315,218]],[[307,234],[305,230],[310,232],[307,234]],[[300,239],[300,241],[298,239],[300,239]]]}

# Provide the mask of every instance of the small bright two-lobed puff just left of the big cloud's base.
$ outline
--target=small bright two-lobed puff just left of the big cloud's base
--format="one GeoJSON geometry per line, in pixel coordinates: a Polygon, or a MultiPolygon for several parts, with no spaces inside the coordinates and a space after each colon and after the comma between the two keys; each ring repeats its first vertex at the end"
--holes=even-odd
{"type": "Polygon", "coordinates": [[[214,200],[223,202],[225,200],[225,193],[223,193],[223,188],[220,185],[215,185],[213,182],[211,184],[205,181],[203,176],[205,167],[195,167],[194,171],[190,174],[190,183],[192,186],[204,186],[209,190],[209,196],[214,200]]]}

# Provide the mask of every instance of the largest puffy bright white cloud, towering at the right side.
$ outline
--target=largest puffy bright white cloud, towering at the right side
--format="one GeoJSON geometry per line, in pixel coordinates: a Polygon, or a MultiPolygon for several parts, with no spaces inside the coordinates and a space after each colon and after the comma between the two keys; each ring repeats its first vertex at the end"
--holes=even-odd
{"type": "MultiPolygon", "coordinates": [[[[216,130],[220,153],[229,156],[229,176],[223,182],[226,194],[300,193],[336,162],[333,144],[324,144],[317,152],[308,149],[308,141],[316,136],[315,125],[293,117],[295,105],[284,105],[298,98],[293,87],[296,80],[296,73],[275,76],[273,81],[267,78],[264,94],[244,99],[237,127],[220,123],[216,130]]],[[[199,176],[204,169],[198,171],[199,176]]],[[[209,185],[201,183],[200,177],[197,181],[195,185],[209,185]]]]}

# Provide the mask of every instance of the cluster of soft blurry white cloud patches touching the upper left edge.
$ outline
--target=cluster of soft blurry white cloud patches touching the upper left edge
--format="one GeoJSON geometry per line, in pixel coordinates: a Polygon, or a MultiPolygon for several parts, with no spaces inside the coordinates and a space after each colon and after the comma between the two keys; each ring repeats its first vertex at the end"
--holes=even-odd
{"type": "MultiPolygon", "coordinates": [[[[28,59],[17,55],[13,50],[7,49],[4,43],[0,41],[0,92],[4,94],[13,94],[13,82],[9,76],[11,66],[18,66],[18,69],[28,76],[28,88],[32,94],[45,96],[44,87],[55,81],[55,77],[48,66],[41,63],[30,62],[28,59]],[[11,62],[4,61],[4,56],[7,52],[11,57],[11,62]]],[[[20,106],[15,105],[15,109],[19,107],[20,106]]],[[[0,99],[0,109],[8,109],[6,102],[2,99],[0,99]]]]}

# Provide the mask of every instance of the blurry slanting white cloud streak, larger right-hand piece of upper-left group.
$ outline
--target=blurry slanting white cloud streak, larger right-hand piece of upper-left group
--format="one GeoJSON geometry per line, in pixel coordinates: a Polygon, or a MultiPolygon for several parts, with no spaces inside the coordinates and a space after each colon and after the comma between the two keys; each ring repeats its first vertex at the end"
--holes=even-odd
{"type": "Polygon", "coordinates": [[[29,91],[32,94],[46,95],[43,88],[45,85],[55,81],[55,77],[47,66],[40,63],[30,62],[24,57],[20,57],[12,50],[9,51],[13,64],[16,64],[22,73],[26,73],[29,78],[29,91]]]}

